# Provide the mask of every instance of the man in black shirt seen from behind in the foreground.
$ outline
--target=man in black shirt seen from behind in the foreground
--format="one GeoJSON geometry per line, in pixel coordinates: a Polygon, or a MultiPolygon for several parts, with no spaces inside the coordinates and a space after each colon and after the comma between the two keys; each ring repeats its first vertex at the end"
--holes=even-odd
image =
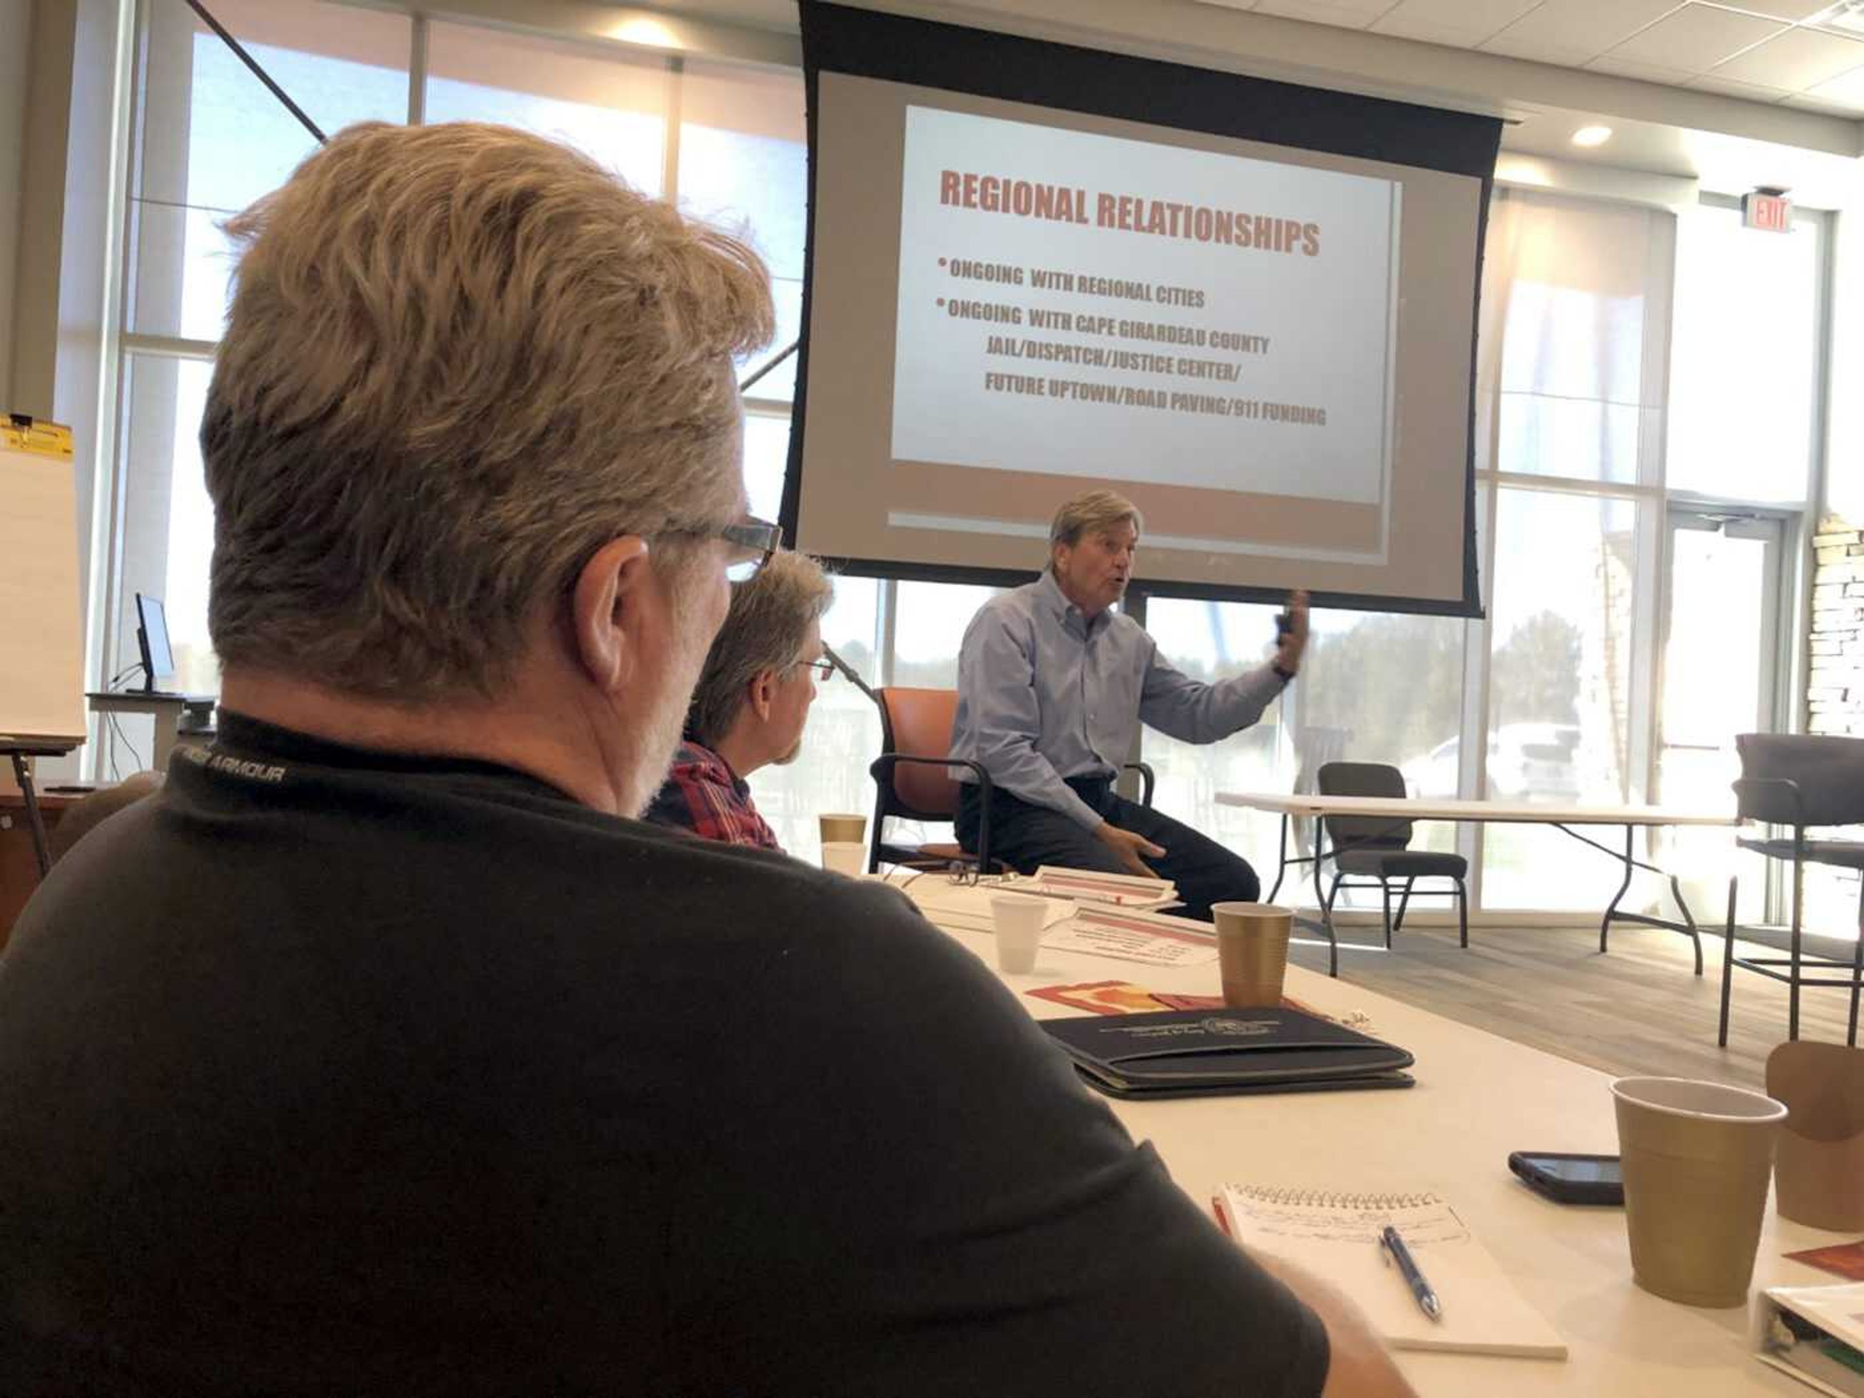
{"type": "Polygon", "coordinates": [[[0,958],[0,1392],[1396,1391],[898,893],[636,820],[775,546],[744,246],[477,125],[231,231],[220,738],[0,958]]]}

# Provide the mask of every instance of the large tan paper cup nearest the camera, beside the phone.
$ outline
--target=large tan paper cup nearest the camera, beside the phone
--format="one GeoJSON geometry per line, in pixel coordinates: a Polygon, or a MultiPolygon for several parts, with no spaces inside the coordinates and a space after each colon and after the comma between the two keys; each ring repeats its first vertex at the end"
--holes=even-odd
{"type": "Polygon", "coordinates": [[[1691,1307],[1747,1305],[1786,1107],[1685,1077],[1620,1077],[1612,1100],[1633,1279],[1691,1307]]]}

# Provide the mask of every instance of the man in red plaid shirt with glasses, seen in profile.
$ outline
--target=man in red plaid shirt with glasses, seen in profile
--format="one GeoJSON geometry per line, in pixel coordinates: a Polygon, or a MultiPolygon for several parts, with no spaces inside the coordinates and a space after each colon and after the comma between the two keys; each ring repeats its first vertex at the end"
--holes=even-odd
{"type": "Polygon", "coordinates": [[[727,844],[781,848],[746,777],[770,762],[794,762],[803,747],[816,678],[835,673],[822,658],[822,613],[833,600],[822,565],[790,552],[731,589],[686,738],[647,807],[649,820],[727,844]]]}

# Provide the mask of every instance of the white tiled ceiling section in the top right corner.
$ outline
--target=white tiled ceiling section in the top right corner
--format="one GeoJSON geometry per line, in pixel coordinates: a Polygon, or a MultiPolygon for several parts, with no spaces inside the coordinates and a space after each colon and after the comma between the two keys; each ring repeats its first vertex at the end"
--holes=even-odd
{"type": "Polygon", "coordinates": [[[1832,0],[1202,0],[1752,103],[1864,116],[1864,35],[1832,0]]]}

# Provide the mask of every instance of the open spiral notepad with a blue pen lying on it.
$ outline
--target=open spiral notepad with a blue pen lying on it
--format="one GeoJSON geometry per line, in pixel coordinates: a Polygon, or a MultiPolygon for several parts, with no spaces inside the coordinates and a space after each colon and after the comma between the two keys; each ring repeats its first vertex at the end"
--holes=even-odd
{"type": "Polygon", "coordinates": [[[1566,1342],[1508,1281],[1461,1215],[1433,1193],[1351,1193],[1232,1184],[1219,1219],[1240,1243],[1307,1268],[1346,1292],[1394,1350],[1566,1359],[1566,1342]],[[1430,1320],[1387,1266],[1379,1230],[1398,1228],[1443,1301],[1430,1320]]]}

